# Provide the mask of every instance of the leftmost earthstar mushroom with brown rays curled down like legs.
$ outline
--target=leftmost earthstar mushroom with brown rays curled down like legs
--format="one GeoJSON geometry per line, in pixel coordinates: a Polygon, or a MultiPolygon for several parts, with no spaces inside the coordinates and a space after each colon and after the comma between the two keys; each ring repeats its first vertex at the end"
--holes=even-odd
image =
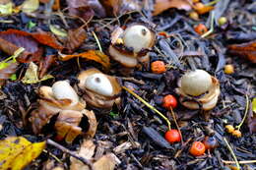
{"type": "Polygon", "coordinates": [[[52,86],[40,86],[38,95],[39,107],[32,112],[31,117],[34,134],[40,133],[50,119],[58,114],[55,123],[57,138],[73,142],[82,134],[82,128],[79,127],[82,117],[89,112],[95,115],[93,111],[85,109],[86,102],[79,98],[67,81],[58,81],[52,86]]]}

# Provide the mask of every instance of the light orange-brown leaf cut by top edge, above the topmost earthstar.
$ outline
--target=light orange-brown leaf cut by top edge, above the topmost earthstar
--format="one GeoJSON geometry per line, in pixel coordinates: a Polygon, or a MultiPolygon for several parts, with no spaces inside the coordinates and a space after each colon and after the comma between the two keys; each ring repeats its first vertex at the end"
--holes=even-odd
{"type": "Polygon", "coordinates": [[[191,4],[191,0],[156,0],[153,16],[157,16],[170,8],[189,11],[192,9],[191,4]]]}

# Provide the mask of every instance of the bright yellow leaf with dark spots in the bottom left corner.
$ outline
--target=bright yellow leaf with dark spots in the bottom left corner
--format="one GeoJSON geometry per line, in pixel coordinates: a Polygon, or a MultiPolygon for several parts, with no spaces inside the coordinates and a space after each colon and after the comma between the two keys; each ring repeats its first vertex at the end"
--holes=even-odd
{"type": "Polygon", "coordinates": [[[0,170],[20,170],[36,158],[45,142],[29,142],[23,137],[9,137],[0,141],[0,170]]]}

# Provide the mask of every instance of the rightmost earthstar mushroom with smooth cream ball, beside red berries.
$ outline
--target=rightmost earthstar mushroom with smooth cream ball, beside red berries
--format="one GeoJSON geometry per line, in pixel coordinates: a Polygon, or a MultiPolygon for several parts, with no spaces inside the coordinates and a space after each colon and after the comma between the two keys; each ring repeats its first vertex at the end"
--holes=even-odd
{"type": "Polygon", "coordinates": [[[220,95],[219,81],[204,70],[195,70],[185,73],[179,87],[180,102],[189,109],[213,109],[220,95]]]}

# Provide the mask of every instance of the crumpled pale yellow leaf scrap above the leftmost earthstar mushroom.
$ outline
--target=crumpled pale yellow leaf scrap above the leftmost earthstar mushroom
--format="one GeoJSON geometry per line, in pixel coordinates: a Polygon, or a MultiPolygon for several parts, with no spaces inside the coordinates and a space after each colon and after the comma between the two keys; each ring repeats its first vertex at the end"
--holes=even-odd
{"type": "Polygon", "coordinates": [[[24,84],[37,84],[42,81],[46,81],[48,79],[52,79],[53,77],[51,75],[45,75],[41,79],[38,78],[38,67],[31,62],[29,65],[29,68],[27,69],[24,78],[22,79],[22,82],[24,84]]]}

